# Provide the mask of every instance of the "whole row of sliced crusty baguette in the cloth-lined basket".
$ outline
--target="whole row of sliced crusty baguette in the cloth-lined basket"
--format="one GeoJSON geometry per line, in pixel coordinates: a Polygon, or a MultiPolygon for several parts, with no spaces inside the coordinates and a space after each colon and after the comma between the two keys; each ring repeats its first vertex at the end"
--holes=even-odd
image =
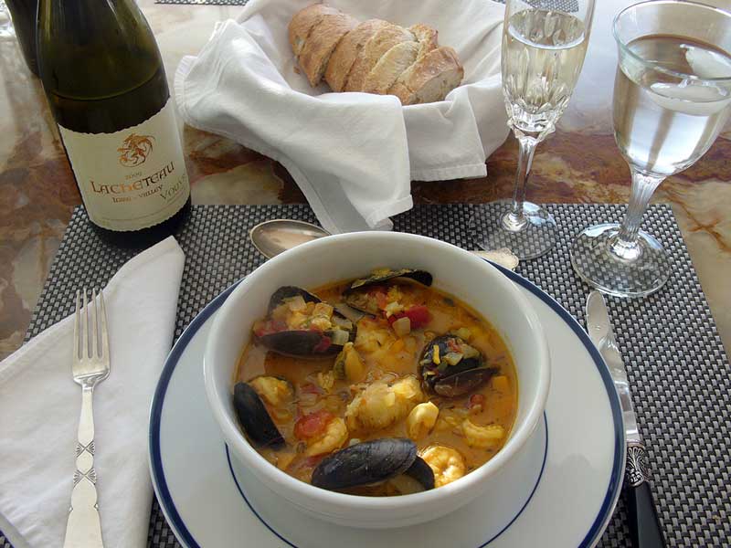
{"type": "Polygon", "coordinates": [[[328,5],[292,16],[295,58],[314,87],[326,79],[334,91],[396,95],[403,105],[443,100],[461,84],[464,68],[438,33],[418,23],[404,28],[381,19],[358,22],[328,5]]]}

